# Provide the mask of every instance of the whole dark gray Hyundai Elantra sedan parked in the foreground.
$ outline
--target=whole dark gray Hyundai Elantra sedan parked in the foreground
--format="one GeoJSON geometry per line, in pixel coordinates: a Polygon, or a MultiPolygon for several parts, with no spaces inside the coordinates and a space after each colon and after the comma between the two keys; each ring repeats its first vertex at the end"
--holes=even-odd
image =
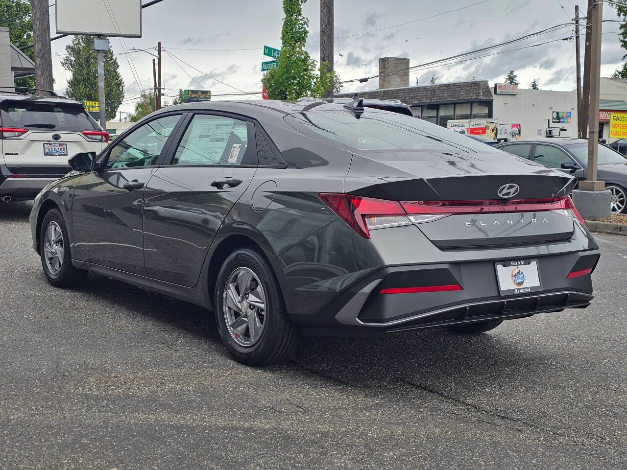
{"type": "Polygon", "coordinates": [[[168,107],[70,167],[30,217],[48,282],[204,306],[250,365],[299,334],[482,333],[593,298],[574,177],[359,99],[168,107]]]}

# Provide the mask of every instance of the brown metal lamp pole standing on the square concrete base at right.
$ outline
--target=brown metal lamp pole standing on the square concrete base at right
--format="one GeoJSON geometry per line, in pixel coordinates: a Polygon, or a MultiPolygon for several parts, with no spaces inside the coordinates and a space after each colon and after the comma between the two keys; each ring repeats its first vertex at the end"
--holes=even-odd
{"type": "Polygon", "coordinates": [[[588,130],[588,162],[586,180],[579,183],[582,191],[603,191],[604,181],[597,181],[597,156],[599,149],[599,85],[601,83],[601,26],[603,0],[594,0],[591,30],[590,63],[590,128],[588,130]]]}

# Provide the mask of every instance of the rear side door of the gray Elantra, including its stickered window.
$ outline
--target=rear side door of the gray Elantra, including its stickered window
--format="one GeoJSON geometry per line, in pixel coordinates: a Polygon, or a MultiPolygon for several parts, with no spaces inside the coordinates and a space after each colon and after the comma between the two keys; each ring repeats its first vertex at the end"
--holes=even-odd
{"type": "Polygon", "coordinates": [[[145,188],[145,266],[151,278],[195,286],[219,226],[255,175],[255,126],[198,112],[178,134],[145,188]]]}

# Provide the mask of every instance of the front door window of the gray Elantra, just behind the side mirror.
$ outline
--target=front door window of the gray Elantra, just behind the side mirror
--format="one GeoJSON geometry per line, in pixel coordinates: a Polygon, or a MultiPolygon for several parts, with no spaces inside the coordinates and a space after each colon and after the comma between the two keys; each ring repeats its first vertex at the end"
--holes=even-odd
{"type": "Polygon", "coordinates": [[[164,116],[145,123],[122,139],[116,139],[105,168],[149,167],[157,164],[167,138],[181,115],[164,116]]]}

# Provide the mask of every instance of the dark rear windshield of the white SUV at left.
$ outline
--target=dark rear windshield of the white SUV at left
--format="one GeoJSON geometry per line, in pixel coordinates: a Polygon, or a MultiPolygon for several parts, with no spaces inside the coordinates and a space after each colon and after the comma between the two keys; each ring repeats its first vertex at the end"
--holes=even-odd
{"type": "Polygon", "coordinates": [[[29,130],[80,132],[98,128],[81,105],[71,103],[3,102],[0,118],[4,127],[29,130]]]}

